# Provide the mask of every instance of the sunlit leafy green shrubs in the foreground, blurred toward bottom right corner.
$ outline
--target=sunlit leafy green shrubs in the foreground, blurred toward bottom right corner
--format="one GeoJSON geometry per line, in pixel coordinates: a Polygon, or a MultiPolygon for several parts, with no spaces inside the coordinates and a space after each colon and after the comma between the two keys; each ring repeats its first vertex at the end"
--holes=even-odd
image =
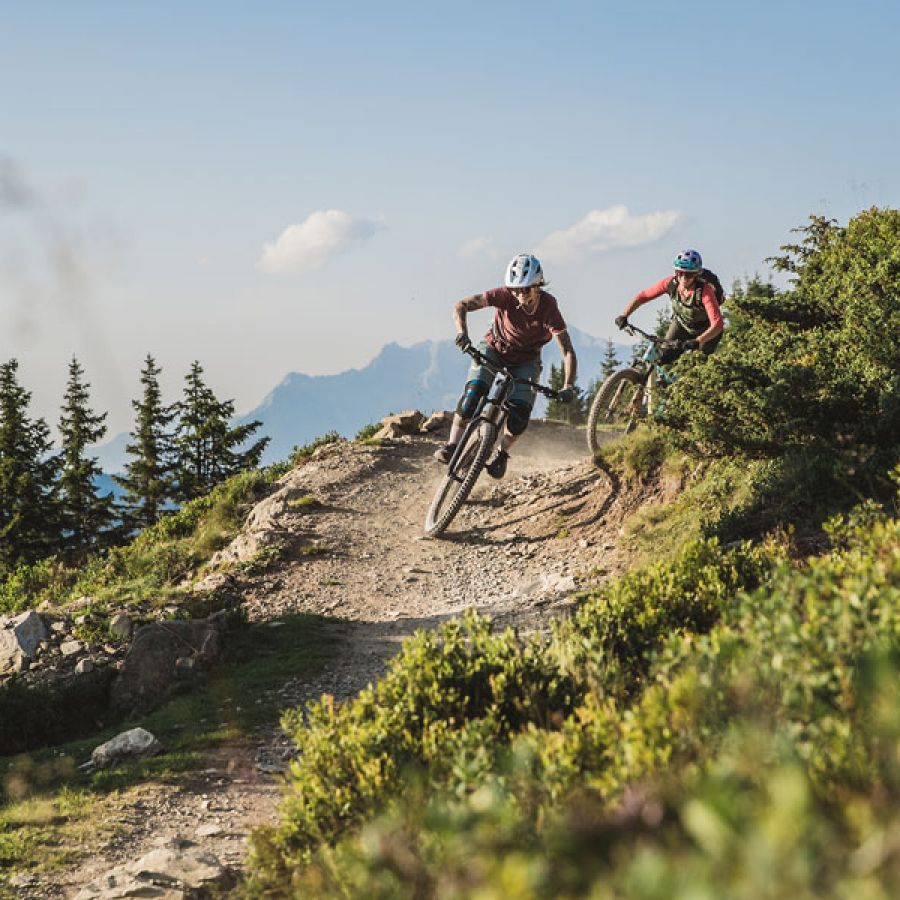
{"type": "Polygon", "coordinates": [[[900,522],[829,530],[799,568],[696,543],[539,648],[455,624],[390,688],[291,714],[250,895],[892,896],[900,522]]]}

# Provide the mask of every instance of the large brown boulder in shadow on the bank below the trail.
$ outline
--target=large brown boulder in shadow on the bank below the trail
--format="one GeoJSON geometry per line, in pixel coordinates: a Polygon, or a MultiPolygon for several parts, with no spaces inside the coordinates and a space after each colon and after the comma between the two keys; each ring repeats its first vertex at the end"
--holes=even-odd
{"type": "Polygon", "coordinates": [[[209,668],[221,650],[215,617],[154,622],[135,632],[122,669],[113,681],[110,702],[124,713],[158,706],[186,671],[209,668]]]}

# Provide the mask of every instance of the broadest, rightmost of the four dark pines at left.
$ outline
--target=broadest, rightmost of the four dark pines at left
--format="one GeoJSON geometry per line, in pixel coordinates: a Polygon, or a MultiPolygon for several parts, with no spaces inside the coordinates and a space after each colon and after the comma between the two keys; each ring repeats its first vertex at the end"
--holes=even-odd
{"type": "Polygon", "coordinates": [[[230,427],[234,401],[219,401],[203,381],[203,369],[194,362],[185,376],[184,399],[177,404],[175,479],[178,500],[184,502],[209,493],[231,475],[259,464],[269,438],[260,438],[238,452],[262,424],[247,422],[230,427]]]}

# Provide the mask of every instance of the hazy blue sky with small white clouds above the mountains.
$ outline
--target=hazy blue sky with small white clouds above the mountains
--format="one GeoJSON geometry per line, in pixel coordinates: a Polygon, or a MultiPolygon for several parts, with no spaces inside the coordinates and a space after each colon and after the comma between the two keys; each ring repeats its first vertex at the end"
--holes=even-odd
{"type": "Polygon", "coordinates": [[[900,205],[898,26],[888,0],[2,2],[0,358],[51,422],[73,354],[113,433],[148,352],[169,399],[199,359],[243,411],[450,337],[520,250],[614,336],[679,249],[728,284],[811,213],[900,205]]]}

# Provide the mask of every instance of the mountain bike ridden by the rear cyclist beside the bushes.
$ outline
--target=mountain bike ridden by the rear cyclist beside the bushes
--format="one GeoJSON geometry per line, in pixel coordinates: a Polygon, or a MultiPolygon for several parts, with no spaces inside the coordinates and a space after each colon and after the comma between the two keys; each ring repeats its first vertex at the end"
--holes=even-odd
{"type": "Polygon", "coordinates": [[[587,438],[591,453],[596,453],[600,438],[610,427],[624,428],[625,434],[637,423],[661,409],[661,395],[675,376],[659,363],[660,351],[674,349],[677,341],[667,341],[647,334],[637,325],[628,324],[625,332],[639,334],[648,342],[640,362],[613,372],[597,391],[588,412],[587,438]]]}

